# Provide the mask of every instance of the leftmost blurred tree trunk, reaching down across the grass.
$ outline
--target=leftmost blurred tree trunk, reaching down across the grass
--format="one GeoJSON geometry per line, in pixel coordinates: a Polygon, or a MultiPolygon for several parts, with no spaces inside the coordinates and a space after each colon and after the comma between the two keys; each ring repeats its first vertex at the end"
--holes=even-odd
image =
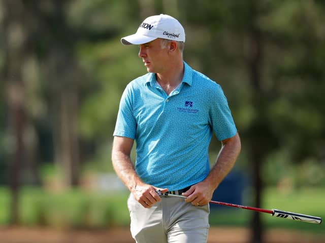
{"type": "Polygon", "coordinates": [[[5,33],[2,79],[5,84],[4,90],[8,106],[8,130],[13,141],[12,154],[10,154],[9,185],[12,194],[10,216],[11,223],[17,224],[19,222],[19,187],[25,156],[24,130],[26,125],[26,90],[22,66],[28,35],[23,29],[21,4],[4,1],[2,7],[4,9],[3,31],[5,33]]]}

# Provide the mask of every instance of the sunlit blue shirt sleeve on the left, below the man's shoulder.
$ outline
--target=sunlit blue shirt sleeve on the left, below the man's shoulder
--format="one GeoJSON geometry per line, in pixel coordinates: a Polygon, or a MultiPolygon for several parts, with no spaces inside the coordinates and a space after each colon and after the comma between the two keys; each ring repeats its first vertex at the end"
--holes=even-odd
{"type": "Polygon", "coordinates": [[[131,85],[127,85],[120,100],[113,136],[135,139],[137,122],[133,113],[133,100],[131,85]]]}

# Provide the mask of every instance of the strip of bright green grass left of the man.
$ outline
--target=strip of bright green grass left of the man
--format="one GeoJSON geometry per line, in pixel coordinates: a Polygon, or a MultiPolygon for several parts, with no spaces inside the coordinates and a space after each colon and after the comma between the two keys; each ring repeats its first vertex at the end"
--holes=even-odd
{"type": "MultiPolygon", "coordinates": [[[[9,223],[9,190],[0,188],[0,224],[9,223]]],[[[20,224],[59,228],[101,228],[129,224],[128,193],[89,193],[74,189],[48,193],[41,188],[23,188],[20,193],[20,224]]]]}

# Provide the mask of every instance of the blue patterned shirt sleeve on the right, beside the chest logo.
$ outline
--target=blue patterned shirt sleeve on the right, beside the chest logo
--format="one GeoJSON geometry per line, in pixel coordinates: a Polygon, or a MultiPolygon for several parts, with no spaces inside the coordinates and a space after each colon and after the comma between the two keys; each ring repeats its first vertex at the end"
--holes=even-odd
{"type": "Polygon", "coordinates": [[[211,102],[210,125],[219,141],[231,138],[237,133],[228,101],[219,85],[211,102]]]}

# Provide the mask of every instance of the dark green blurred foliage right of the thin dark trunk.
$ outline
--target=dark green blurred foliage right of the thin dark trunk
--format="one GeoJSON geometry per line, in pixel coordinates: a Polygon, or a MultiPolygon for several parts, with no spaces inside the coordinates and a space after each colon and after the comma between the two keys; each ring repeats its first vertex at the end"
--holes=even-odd
{"type": "Polygon", "coordinates": [[[276,98],[269,108],[270,125],[293,163],[313,157],[324,164],[324,6],[286,1],[269,7],[261,26],[268,36],[266,70],[273,79],[268,86],[276,98]]]}

